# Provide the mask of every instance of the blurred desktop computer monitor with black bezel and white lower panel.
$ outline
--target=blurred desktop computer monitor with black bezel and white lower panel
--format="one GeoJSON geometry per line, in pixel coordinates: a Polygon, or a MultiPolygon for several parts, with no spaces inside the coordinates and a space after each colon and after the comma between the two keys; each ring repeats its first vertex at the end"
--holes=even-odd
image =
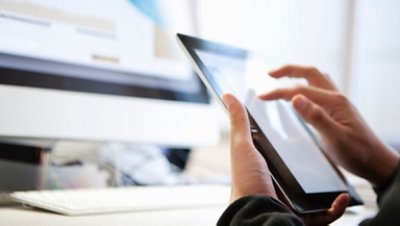
{"type": "Polygon", "coordinates": [[[171,50],[173,35],[128,0],[0,0],[0,33],[3,139],[218,140],[208,95],[171,50]]]}

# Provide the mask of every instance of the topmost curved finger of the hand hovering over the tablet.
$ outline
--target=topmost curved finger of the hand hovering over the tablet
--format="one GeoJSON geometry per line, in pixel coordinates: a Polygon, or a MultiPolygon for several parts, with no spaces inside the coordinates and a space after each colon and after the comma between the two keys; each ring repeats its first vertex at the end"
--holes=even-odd
{"type": "Polygon", "coordinates": [[[274,78],[304,78],[311,86],[316,86],[328,90],[337,90],[329,76],[321,73],[315,67],[285,65],[281,68],[270,71],[269,75],[274,78]]]}

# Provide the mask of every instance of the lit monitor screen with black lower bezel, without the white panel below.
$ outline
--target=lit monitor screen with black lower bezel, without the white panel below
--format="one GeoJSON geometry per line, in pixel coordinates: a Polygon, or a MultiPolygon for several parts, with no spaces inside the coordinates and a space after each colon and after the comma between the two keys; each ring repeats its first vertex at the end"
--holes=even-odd
{"type": "Polygon", "coordinates": [[[2,84],[207,102],[168,33],[127,0],[0,0],[0,22],[2,84]]]}

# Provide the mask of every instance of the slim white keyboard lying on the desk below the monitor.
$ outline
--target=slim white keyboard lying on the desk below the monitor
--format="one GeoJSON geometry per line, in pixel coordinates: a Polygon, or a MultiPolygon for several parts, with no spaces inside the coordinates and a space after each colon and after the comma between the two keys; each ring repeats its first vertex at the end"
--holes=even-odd
{"type": "Polygon", "coordinates": [[[225,206],[229,195],[228,186],[185,185],[23,191],[10,197],[24,205],[74,216],[225,206]]]}

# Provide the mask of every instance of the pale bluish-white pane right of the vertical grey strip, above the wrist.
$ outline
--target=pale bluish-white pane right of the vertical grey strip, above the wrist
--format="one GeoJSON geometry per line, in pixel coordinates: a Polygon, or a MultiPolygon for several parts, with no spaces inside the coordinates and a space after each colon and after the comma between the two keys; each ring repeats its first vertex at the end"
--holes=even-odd
{"type": "Polygon", "coordinates": [[[400,143],[400,1],[360,0],[352,98],[373,129],[400,143]]]}

